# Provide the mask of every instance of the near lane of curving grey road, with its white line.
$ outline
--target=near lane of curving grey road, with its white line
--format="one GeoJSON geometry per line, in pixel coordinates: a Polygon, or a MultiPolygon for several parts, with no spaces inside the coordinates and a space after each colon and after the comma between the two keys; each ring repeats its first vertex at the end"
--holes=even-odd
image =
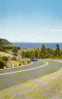
{"type": "Polygon", "coordinates": [[[0,91],[13,85],[24,83],[38,77],[53,73],[62,68],[59,61],[43,60],[34,62],[27,67],[21,67],[19,70],[10,70],[0,73],[0,91]]]}

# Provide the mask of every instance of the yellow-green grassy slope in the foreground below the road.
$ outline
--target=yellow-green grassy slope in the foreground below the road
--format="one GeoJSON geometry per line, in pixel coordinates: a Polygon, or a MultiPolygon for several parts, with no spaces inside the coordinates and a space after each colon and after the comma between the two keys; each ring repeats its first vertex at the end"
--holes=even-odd
{"type": "Polygon", "coordinates": [[[0,99],[62,99],[62,69],[0,92],[0,99]]]}

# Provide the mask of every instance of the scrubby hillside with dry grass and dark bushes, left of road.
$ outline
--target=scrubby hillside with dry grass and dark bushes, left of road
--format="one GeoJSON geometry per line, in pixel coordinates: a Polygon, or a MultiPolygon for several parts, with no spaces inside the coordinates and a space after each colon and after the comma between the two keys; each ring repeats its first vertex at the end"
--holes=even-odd
{"type": "Polygon", "coordinates": [[[22,58],[19,48],[5,39],[0,39],[0,69],[18,68],[31,63],[28,58],[22,58]]]}

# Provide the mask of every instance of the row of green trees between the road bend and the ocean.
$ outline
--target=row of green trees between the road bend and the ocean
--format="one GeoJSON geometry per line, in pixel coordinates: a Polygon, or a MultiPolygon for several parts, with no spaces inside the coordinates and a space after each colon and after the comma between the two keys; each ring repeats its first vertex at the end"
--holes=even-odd
{"type": "Polygon", "coordinates": [[[43,44],[41,49],[34,48],[31,51],[22,51],[23,58],[61,58],[62,51],[59,44],[56,44],[56,49],[46,48],[43,44]]]}

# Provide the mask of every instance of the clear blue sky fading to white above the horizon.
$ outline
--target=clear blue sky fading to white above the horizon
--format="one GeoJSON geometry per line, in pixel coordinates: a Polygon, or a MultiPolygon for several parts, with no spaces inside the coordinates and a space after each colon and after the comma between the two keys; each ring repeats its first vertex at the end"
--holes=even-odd
{"type": "Polygon", "coordinates": [[[0,38],[62,42],[62,0],[0,0],[0,38]]]}

